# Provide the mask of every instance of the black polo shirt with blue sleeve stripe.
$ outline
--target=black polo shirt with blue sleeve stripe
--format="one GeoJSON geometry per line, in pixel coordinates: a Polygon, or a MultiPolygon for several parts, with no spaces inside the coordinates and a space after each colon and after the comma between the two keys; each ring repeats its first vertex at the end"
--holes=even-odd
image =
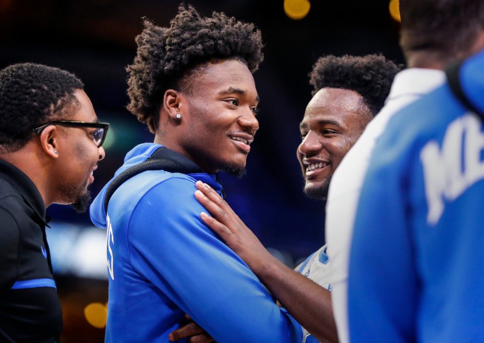
{"type": "Polygon", "coordinates": [[[0,160],[0,342],[60,341],[61,303],[46,225],[34,183],[0,160]]]}

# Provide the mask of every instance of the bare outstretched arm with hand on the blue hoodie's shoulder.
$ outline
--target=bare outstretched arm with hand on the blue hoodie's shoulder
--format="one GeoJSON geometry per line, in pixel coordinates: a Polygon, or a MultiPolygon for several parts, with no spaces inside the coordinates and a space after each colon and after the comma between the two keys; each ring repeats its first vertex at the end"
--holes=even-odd
{"type": "Polygon", "coordinates": [[[197,200],[214,216],[203,221],[243,259],[287,311],[320,341],[337,341],[330,292],[272,256],[211,188],[197,182],[197,200]]]}

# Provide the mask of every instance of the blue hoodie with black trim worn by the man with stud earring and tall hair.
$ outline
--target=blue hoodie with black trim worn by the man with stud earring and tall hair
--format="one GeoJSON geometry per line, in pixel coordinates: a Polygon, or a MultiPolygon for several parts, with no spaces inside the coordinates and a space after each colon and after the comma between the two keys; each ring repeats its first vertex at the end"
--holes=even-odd
{"type": "MultiPolygon", "coordinates": [[[[136,146],[115,175],[160,147],[136,146]]],[[[181,163],[194,164],[168,151],[181,163]]],[[[200,218],[206,210],[194,196],[197,180],[222,190],[216,175],[202,170],[190,175],[150,170],[113,193],[107,216],[103,202],[109,184],[92,203],[92,221],[107,228],[105,341],[168,342],[188,313],[219,343],[301,342],[301,326],[200,218]]]]}

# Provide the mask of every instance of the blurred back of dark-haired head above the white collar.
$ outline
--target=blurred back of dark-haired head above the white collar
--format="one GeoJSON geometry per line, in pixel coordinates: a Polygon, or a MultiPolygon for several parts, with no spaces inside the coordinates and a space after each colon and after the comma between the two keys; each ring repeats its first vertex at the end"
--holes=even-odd
{"type": "Polygon", "coordinates": [[[444,65],[465,58],[484,31],[482,0],[400,0],[400,45],[407,61],[426,52],[444,65]]]}

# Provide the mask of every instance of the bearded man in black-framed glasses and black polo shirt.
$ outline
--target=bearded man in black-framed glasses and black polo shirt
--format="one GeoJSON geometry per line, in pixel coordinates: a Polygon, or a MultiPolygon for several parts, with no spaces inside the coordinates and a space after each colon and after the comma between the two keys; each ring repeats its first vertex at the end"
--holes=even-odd
{"type": "Polygon", "coordinates": [[[0,71],[0,341],[60,341],[45,208],[87,208],[109,127],[83,86],[43,65],[0,71]]]}

